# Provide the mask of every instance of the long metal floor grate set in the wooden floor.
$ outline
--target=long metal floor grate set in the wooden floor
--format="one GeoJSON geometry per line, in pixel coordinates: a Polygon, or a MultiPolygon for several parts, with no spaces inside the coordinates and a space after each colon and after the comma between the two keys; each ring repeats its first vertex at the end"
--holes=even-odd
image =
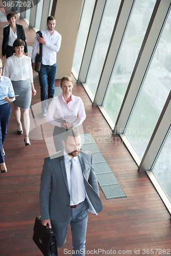
{"type": "Polygon", "coordinates": [[[90,133],[81,136],[81,149],[92,153],[97,181],[106,199],[127,197],[90,133]]]}

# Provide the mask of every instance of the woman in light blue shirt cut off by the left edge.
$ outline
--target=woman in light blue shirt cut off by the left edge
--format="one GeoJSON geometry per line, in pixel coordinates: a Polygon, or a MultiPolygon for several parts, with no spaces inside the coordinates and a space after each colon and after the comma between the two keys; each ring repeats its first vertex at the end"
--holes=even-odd
{"type": "Polygon", "coordinates": [[[3,143],[7,135],[7,127],[11,115],[11,103],[15,100],[12,83],[8,77],[2,76],[3,62],[0,59],[0,166],[1,172],[7,173],[3,143]]]}

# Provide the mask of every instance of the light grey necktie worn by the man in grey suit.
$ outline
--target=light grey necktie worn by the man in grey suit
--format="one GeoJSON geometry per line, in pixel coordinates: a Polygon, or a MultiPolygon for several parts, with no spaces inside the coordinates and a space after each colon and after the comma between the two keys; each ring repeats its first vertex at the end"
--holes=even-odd
{"type": "Polygon", "coordinates": [[[78,195],[78,181],[77,181],[77,170],[74,168],[74,159],[70,159],[70,183],[71,183],[71,200],[74,204],[79,201],[78,195]]]}

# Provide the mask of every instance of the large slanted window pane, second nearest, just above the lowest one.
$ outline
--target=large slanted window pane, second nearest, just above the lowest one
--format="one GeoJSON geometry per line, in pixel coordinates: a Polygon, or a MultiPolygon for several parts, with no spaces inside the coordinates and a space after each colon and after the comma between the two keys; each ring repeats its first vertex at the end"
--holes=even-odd
{"type": "Polygon", "coordinates": [[[170,29],[171,13],[168,15],[125,133],[140,159],[171,89],[170,29]]]}

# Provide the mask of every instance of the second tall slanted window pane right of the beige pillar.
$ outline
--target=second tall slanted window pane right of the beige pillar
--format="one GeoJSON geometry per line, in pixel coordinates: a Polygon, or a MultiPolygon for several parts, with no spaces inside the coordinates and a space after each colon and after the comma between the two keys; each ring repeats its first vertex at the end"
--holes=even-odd
{"type": "Polygon", "coordinates": [[[121,0],[108,0],[105,6],[103,19],[86,78],[86,83],[94,96],[102,73],[120,2],[121,0]]]}

